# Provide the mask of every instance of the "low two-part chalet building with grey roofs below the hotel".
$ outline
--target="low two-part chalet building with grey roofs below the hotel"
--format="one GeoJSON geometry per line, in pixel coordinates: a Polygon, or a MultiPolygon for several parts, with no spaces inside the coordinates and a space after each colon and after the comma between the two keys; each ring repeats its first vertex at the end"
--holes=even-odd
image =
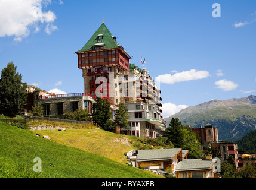
{"type": "Polygon", "coordinates": [[[220,178],[216,173],[215,163],[211,155],[206,159],[187,159],[189,150],[181,148],[155,149],[155,150],[131,150],[125,153],[127,164],[133,167],[165,172],[171,167],[176,178],[220,178]]]}

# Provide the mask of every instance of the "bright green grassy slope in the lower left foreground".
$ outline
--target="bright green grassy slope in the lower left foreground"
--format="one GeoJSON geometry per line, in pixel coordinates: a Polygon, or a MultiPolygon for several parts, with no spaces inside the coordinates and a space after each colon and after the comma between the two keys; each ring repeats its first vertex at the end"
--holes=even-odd
{"type": "MultiPolygon", "coordinates": [[[[55,131],[56,132],[56,131],[55,131]]],[[[36,137],[0,122],[0,178],[158,178],[97,154],[36,137]],[[33,159],[42,172],[33,172],[33,159]]]]}

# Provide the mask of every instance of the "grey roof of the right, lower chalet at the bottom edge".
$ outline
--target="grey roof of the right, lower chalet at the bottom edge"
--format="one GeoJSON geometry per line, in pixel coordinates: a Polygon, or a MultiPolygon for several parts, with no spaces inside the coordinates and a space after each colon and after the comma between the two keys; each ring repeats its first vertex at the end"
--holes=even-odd
{"type": "Polygon", "coordinates": [[[202,159],[184,159],[177,164],[175,172],[211,170],[214,162],[202,159]]]}

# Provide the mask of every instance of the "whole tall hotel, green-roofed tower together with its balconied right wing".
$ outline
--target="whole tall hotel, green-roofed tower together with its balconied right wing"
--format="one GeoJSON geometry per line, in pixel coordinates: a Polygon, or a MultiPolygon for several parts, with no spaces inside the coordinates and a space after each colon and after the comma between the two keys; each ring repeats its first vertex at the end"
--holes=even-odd
{"type": "MultiPolygon", "coordinates": [[[[127,107],[129,126],[122,128],[121,134],[141,138],[164,135],[162,105],[159,103],[161,91],[146,68],[129,64],[131,57],[104,23],[75,53],[78,68],[82,69],[85,93],[108,99],[112,103],[112,119],[118,103],[127,107]]],[[[87,106],[92,104],[87,103],[87,106]]]]}

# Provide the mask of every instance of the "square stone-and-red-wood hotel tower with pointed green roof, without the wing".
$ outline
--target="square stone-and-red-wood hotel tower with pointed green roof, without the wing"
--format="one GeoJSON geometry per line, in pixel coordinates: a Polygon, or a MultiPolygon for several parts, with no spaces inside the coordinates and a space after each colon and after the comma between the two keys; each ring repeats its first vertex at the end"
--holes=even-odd
{"type": "MultiPolygon", "coordinates": [[[[85,93],[94,97],[101,94],[101,97],[111,103],[117,103],[115,94],[110,94],[113,93],[109,89],[110,72],[116,76],[119,72],[129,71],[131,57],[124,47],[116,42],[116,37],[110,33],[104,21],[84,47],[75,53],[78,55],[78,68],[82,69],[85,93]],[[103,84],[97,84],[98,77],[104,78],[105,81],[101,80],[103,84]]],[[[114,81],[115,83],[118,82],[114,81]]]]}

